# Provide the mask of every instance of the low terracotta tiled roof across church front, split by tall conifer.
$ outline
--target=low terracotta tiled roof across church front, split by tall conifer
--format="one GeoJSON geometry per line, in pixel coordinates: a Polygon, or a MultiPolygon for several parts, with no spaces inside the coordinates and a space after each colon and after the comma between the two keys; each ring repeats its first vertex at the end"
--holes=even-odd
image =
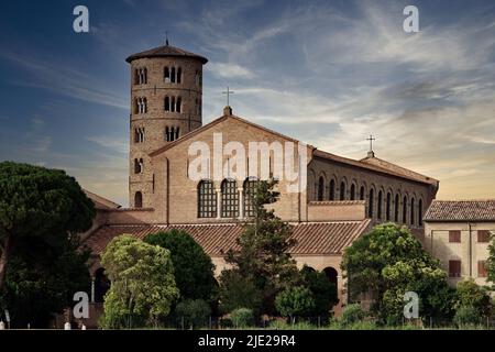
{"type": "MultiPolygon", "coordinates": [[[[293,239],[297,244],[293,254],[341,254],[350,243],[363,234],[370,220],[309,222],[294,226],[293,239]]],[[[198,242],[206,253],[219,256],[229,249],[235,249],[235,239],[242,227],[235,223],[223,224],[177,224],[177,226],[107,226],[98,229],[86,241],[94,254],[100,254],[107,244],[120,234],[131,234],[144,239],[150,233],[185,230],[198,242]]]]}

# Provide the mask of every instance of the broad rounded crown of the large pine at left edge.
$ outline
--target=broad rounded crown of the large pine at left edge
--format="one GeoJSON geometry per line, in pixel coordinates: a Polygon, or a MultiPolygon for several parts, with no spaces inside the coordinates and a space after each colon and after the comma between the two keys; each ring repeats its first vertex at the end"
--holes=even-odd
{"type": "Polygon", "coordinates": [[[0,163],[0,289],[16,243],[64,242],[91,227],[95,206],[63,170],[0,163]]]}

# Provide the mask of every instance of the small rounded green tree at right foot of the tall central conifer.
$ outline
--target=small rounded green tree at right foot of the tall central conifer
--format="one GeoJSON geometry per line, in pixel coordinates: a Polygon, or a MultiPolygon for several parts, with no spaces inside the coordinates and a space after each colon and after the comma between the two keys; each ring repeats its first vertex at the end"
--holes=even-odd
{"type": "Polygon", "coordinates": [[[293,321],[295,317],[306,317],[315,309],[315,298],[307,287],[288,287],[277,295],[275,306],[283,317],[293,321]]]}

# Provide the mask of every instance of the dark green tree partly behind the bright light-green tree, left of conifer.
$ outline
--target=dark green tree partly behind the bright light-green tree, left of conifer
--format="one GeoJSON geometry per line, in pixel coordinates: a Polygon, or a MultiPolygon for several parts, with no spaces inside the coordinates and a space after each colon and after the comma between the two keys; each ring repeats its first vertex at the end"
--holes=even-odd
{"type": "Polygon", "coordinates": [[[182,230],[148,234],[144,242],[170,251],[175,283],[183,299],[212,302],[218,296],[211,257],[190,234],[182,230]]]}

